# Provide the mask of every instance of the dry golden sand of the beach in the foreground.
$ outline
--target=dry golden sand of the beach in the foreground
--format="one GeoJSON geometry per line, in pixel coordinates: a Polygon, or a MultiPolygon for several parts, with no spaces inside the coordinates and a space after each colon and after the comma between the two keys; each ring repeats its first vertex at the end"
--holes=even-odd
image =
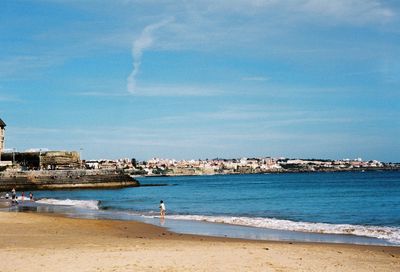
{"type": "Polygon", "coordinates": [[[213,238],[0,212],[0,271],[400,271],[400,247],[213,238]]]}

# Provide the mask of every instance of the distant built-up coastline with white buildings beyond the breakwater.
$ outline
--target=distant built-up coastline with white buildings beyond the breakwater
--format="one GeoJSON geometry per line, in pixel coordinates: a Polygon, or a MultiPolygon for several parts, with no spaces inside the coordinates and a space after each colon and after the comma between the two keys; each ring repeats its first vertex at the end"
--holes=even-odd
{"type": "Polygon", "coordinates": [[[152,159],[133,167],[131,173],[139,176],[196,176],[310,172],[364,172],[399,171],[399,163],[376,160],[303,160],[303,159],[214,159],[174,161],[152,159]]]}

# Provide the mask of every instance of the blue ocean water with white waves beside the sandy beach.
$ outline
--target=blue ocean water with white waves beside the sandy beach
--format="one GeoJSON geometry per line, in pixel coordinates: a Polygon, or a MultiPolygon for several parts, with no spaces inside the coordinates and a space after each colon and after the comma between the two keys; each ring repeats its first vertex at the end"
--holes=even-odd
{"type": "Polygon", "coordinates": [[[400,246],[400,172],[138,180],[151,186],[36,191],[35,204],[25,201],[11,211],[139,220],[181,233],[246,239],[400,246]],[[158,217],[160,200],[165,220],[158,217]]]}

